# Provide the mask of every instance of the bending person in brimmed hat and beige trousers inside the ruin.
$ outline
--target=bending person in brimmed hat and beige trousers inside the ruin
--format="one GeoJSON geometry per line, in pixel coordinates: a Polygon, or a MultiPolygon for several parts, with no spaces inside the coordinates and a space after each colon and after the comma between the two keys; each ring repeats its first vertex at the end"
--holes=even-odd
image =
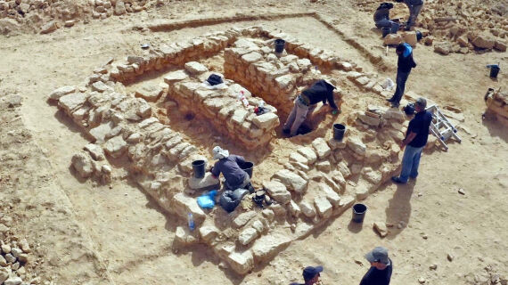
{"type": "Polygon", "coordinates": [[[332,108],[332,114],[335,115],[339,113],[339,108],[333,101],[333,90],[337,89],[333,83],[332,80],[319,80],[297,96],[290,116],[283,126],[284,134],[290,134],[290,136],[296,135],[299,126],[305,121],[307,114],[312,114],[318,102],[323,102],[324,105],[326,102],[329,102],[332,108]]]}

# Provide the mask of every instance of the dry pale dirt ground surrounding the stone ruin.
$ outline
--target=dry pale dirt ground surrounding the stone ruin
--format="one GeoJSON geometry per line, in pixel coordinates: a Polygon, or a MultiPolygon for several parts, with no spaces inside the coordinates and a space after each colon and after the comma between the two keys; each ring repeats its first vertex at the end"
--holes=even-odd
{"type": "MultiPolygon", "coordinates": [[[[450,143],[447,152],[425,153],[417,181],[386,184],[366,199],[363,227],[350,224],[346,212],[244,277],[220,269],[208,248],[172,250],[179,221],[162,212],[127,173],[111,186],[79,181],[73,175],[70,158],[86,138],[45,101],[46,95],[61,85],[77,85],[111,57],[124,57],[146,42],[178,42],[208,31],[265,24],[394,78],[397,58],[393,50],[384,54],[371,19],[350,1],[178,1],[123,19],[78,23],[49,35],[0,37],[0,210],[10,232],[29,240],[34,250],[37,264],[28,265],[28,275],[54,284],[287,284],[300,280],[303,266],[324,265],[324,284],[356,284],[368,268],[365,252],[381,245],[389,248],[394,262],[394,285],[417,284],[419,279],[425,284],[490,284],[481,281],[491,273],[506,279],[508,130],[482,120],[481,114],[488,87],[508,86],[503,63],[497,81],[488,77],[485,65],[508,62],[507,53],[441,56],[432,47],[418,45],[418,67],[406,90],[463,110],[463,142],[450,143]],[[343,34],[311,17],[224,22],[164,33],[132,28],[167,20],[168,15],[188,20],[309,10],[332,20],[343,34]],[[381,55],[389,69],[376,70],[345,37],[381,55]],[[9,107],[14,94],[22,103],[9,107]],[[461,188],[465,195],[458,193],[461,188]],[[390,228],[381,239],[372,230],[376,221],[406,225],[390,228]],[[430,270],[434,264],[437,269],[430,270]]],[[[381,98],[363,98],[357,92],[350,96],[383,104],[381,98]]],[[[345,101],[345,109],[357,107],[345,101]]],[[[274,143],[283,150],[283,141],[274,143]]],[[[255,153],[246,156],[256,160],[255,153]]],[[[269,173],[270,161],[278,156],[283,153],[259,161],[256,173],[269,173]]]]}

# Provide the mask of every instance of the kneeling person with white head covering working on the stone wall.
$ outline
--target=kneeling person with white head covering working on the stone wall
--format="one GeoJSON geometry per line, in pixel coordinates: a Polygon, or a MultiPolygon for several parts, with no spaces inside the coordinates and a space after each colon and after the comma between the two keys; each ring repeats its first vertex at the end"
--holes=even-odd
{"type": "Polygon", "coordinates": [[[222,173],[225,178],[225,189],[236,190],[239,188],[247,189],[250,192],[254,191],[250,183],[250,177],[239,164],[244,164],[246,161],[243,157],[229,154],[229,151],[223,150],[220,146],[216,146],[212,150],[213,159],[218,159],[215,165],[210,169],[214,178],[222,173]]]}

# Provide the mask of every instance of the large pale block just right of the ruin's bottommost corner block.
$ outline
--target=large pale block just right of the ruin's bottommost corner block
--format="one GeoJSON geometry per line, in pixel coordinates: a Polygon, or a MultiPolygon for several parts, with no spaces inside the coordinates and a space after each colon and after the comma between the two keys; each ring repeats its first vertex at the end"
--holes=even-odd
{"type": "Polygon", "coordinates": [[[291,242],[286,234],[275,232],[265,235],[254,242],[252,254],[258,263],[270,260],[291,242]]]}

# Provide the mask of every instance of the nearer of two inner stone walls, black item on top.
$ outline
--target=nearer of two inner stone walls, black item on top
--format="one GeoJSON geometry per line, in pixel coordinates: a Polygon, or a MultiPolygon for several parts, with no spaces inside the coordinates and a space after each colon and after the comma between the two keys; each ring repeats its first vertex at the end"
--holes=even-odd
{"type": "Polygon", "coordinates": [[[185,69],[173,71],[165,78],[168,98],[178,102],[180,110],[206,119],[219,133],[250,150],[272,140],[274,128],[280,124],[274,107],[265,105],[269,112],[258,116],[254,108],[261,100],[242,85],[226,80],[226,89],[210,90],[202,85],[211,74],[204,65],[191,61],[185,64],[185,69]],[[249,102],[247,108],[237,99],[241,92],[249,102]]]}

